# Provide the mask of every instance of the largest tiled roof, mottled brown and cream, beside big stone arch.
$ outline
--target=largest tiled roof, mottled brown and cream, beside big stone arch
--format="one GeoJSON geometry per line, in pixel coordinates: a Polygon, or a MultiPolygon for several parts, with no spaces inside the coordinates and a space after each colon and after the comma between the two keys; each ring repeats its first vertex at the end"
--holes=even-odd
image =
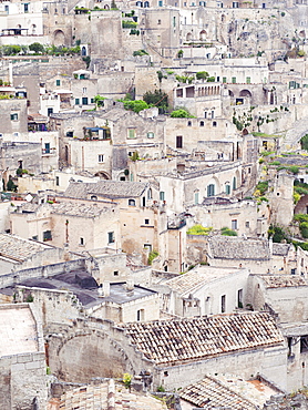
{"type": "Polygon", "coordinates": [[[267,312],[133,322],[124,327],[131,342],[157,365],[201,360],[284,341],[267,312]]]}

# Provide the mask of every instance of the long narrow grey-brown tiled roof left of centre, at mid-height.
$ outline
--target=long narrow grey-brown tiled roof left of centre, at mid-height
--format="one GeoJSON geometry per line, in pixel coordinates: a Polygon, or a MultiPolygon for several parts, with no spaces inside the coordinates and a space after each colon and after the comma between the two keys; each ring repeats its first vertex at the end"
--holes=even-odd
{"type": "Polygon", "coordinates": [[[141,196],[147,184],[126,181],[99,181],[97,183],[70,183],[64,195],[86,198],[89,195],[101,195],[107,198],[125,198],[141,196]]]}

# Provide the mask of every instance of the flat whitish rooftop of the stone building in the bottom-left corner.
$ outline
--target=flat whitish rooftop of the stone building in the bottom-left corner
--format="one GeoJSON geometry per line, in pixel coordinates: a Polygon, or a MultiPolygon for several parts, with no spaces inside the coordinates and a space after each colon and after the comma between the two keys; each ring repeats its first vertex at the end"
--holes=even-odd
{"type": "Polygon", "coordinates": [[[0,357],[39,351],[37,322],[29,306],[0,306],[0,357]]]}

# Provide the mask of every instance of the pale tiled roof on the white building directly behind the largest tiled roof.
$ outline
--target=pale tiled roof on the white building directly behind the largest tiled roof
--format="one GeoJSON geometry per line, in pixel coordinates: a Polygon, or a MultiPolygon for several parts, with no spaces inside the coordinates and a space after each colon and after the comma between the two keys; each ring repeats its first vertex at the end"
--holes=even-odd
{"type": "Polygon", "coordinates": [[[235,271],[238,271],[238,269],[199,266],[184,275],[179,275],[165,281],[164,285],[183,295],[193,291],[207,283],[224,278],[235,271]]]}

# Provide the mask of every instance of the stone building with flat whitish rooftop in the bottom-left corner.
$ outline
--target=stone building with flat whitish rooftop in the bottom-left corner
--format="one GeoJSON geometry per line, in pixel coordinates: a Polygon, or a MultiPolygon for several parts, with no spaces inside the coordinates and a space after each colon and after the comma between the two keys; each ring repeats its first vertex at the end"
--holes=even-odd
{"type": "Polygon", "coordinates": [[[0,305],[0,406],[44,409],[47,365],[41,322],[31,304],[0,305]]]}

